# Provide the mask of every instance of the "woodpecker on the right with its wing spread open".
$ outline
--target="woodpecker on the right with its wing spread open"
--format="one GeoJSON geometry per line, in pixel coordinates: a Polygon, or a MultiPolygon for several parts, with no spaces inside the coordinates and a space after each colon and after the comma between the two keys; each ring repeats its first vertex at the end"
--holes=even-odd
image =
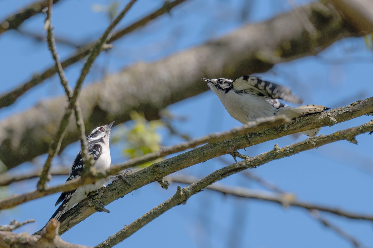
{"type": "MultiPolygon", "coordinates": [[[[294,96],[289,88],[280,86],[259,77],[245,75],[235,80],[227,78],[202,78],[223,103],[228,113],[236,120],[245,124],[260,117],[285,115],[291,119],[319,113],[329,108],[308,104],[291,107],[279,100],[302,104],[303,101],[294,96]]],[[[307,136],[315,136],[320,128],[301,132],[307,136]]]]}

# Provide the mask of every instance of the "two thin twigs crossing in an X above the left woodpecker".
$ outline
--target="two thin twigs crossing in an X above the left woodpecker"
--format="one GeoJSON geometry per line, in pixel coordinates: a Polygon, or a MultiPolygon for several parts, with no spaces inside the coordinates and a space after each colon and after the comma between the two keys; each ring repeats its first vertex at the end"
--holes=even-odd
{"type": "Polygon", "coordinates": [[[48,172],[50,169],[51,161],[52,158],[59,152],[59,148],[62,142],[63,135],[66,131],[66,127],[69,123],[70,115],[72,113],[72,110],[77,110],[75,111],[75,118],[76,118],[76,124],[81,130],[81,144],[82,144],[82,157],[85,159],[85,174],[89,173],[89,169],[91,167],[91,162],[88,157],[88,151],[87,151],[87,141],[85,140],[85,131],[84,131],[84,121],[81,116],[81,111],[79,107],[77,108],[76,106],[76,100],[78,99],[79,91],[82,87],[83,81],[88,74],[93,62],[95,59],[98,57],[100,52],[102,51],[103,45],[106,43],[107,38],[109,37],[109,34],[112,32],[112,30],[115,28],[115,26],[122,20],[122,18],[125,16],[125,14],[128,12],[128,10],[132,7],[132,5],[135,3],[136,0],[131,0],[127,6],[122,10],[122,12],[119,13],[119,15],[113,20],[112,23],[110,23],[109,27],[105,30],[103,35],[98,39],[96,44],[94,45],[92,52],[88,56],[87,61],[85,62],[82,72],[78,78],[78,81],[76,81],[76,86],[74,88],[74,91],[71,93],[71,90],[68,87],[67,80],[63,74],[62,70],[62,65],[59,62],[58,55],[56,53],[55,45],[53,42],[53,33],[52,33],[52,28],[51,28],[51,0],[49,4],[49,9],[47,13],[47,21],[46,21],[46,26],[48,29],[48,46],[51,49],[53,59],[56,61],[56,67],[57,71],[60,76],[61,84],[64,86],[66,94],[68,95],[69,98],[69,104],[66,109],[65,115],[62,117],[62,120],[60,122],[60,126],[57,129],[56,135],[54,139],[51,142],[49,151],[48,151],[48,158],[46,163],[44,164],[43,171],[40,175],[40,180],[38,181],[37,188],[38,190],[43,190],[45,187],[45,183],[48,180],[48,172]]]}

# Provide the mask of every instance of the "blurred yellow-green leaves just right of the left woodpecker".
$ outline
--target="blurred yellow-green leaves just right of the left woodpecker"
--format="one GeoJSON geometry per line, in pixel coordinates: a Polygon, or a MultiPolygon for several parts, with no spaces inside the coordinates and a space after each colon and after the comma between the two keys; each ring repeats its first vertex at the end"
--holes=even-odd
{"type": "MultiPolygon", "coordinates": [[[[132,111],[130,113],[132,122],[128,126],[123,127],[115,133],[113,142],[125,141],[123,154],[128,158],[136,158],[150,152],[158,151],[161,148],[162,137],[159,134],[159,128],[164,124],[161,120],[147,121],[144,114],[132,111]]],[[[140,165],[147,167],[158,160],[147,162],[140,165]]]]}

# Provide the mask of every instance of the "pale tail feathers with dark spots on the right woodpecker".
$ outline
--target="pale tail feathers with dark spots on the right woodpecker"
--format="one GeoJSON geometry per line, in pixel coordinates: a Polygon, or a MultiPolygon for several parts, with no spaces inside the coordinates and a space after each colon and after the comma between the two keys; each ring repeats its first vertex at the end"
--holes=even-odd
{"type": "MultiPolygon", "coordinates": [[[[280,108],[276,112],[276,115],[285,115],[291,119],[294,119],[294,118],[305,116],[305,115],[320,113],[328,109],[329,108],[325,106],[315,105],[315,104],[308,104],[308,105],[303,105],[299,107],[286,106],[286,107],[280,108]]],[[[320,128],[315,128],[315,129],[307,130],[301,133],[303,133],[304,135],[313,137],[313,136],[316,136],[319,133],[319,131],[320,131],[320,128]]]]}

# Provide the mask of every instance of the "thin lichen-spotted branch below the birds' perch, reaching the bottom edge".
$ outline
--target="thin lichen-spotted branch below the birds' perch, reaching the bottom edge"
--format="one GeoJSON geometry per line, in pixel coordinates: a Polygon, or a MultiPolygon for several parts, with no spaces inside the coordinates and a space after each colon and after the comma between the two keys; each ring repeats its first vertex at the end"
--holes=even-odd
{"type": "MultiPolygon", "coordinates": [[[[125,226],[123,229],[121,229],[119,232],[115,233],[114,235],[110,236],[108,239],[106,239],[101,244],[97,245],[95,248],[109,248],[113,247],[115,244],[118,244],[119,242],[123,241],[124,239],[131,236],[133,233],[138,231],[140,228],[145,226],[147,223],[149,223],[151,220],[159,217],[167,210],[171,209],[174,206],[177,206],[179,204],[185,204],[186,201],[194,194],[197,194],[207,186],[213,184],[216,181],[219,181],[225,177],[228,177],[229,175],[238,173],[242,170],[248,169],[248,168],[256,168],[260,165],[263,165],[269,161],[277,160],[279,158],[283,157],[289,157],[291,155],[297,154],[301,151],[306,151],[309,149],[313,149],[325,144],[329,144],[331,142],[339,141],[339,140],[347,140],[347,141],[353,141],[355,139],[355,136],[361,133],[370,132],[373,130],[373,120],[370,122],[367,122],[363,125],[345,129],[343,131],[338,131],[335,133],[332,133],[330,135],[326,136],[316,136],[313,138],[308,138],[305,141],[298,142],[296,144],[284,146],[282,148],[278,148],[275,146],[275,149],[272,151],[264,152],[263,154],[259,154],[255,157],[248,158],[245,161],[236,162],[234,164],[228,165],[226,167],[223,167],[219,170],[214,171],[213,173],[207,175],[204,178],[201,178],[195,183],[192,183],[190,186],[185,187],[184,189],[181,189],[181,187],[178,186],[178,189],[176,191],[176,194],[170,197],[165,202],[161,203],[160,205],[154,207],[149,212],[145,213],[143,216],[129,224],[128,226],[125,226]]],[[[130,175],[131,176],[131,175],[130,175]]],[[[238,192],[236,192],[238,193],[238,192]]],[[[242,192],[241,192],[242,194],[242,192]]],[[[283,199],[280,202],[281,204],[284,203],[283,199]]],[[[286,203],[292,203],[291,200],[286,203]]],[[[294,202],[293,202],[294,203],[294,202]]],[[[311,206],[310,209],[313,209],[315,206],[311,206]]],[[[307,207],[306,207],[307,208],[307,207]]],[[[320,209],[321,210],[321,209],[320,209]]],[[[325,210],[325,209],[324,209],[325,210]]],[[[338,215],[341,215],[340,210],[336,209],[334,211],[330,211],[331,213],[335,213],[338,215]]],[[[346,215],[343,215],[347,218],[352,219],[365,219],[373,221],[373,216],[356,216],[351,213],[345,213],[346,215]]],[[[62,222],[63,223],[63,222],[62,222]]],[[[70,224],[70,223],[69,223],[70,224]]]]}

